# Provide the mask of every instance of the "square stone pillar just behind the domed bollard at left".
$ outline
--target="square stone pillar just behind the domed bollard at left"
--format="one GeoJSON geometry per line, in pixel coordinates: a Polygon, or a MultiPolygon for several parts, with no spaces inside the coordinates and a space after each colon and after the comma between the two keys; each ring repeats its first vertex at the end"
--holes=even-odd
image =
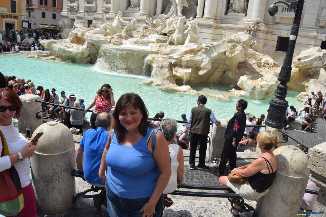
{"type": "MultiPolygon", "coordinates": [[[[19,98],[24,107],[22,108],[20,118],[18,118],[18,131],[25,134],[26,128],[29,128],[33,132],[42,124],[42,118],[36,118],[36,113],[42,111],[42,105],[40,102],[35,102],[35,100],[41,100],[41,97],[33,94],[25,94],[19,96],[19,98]]],[[[40,115],[42,116],[42,113],[40,115]]]]}

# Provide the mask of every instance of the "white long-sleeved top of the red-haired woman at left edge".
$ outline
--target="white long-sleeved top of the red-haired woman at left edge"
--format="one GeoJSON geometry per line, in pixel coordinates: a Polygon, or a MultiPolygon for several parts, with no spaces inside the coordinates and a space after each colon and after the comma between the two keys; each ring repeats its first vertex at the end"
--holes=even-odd
{"type": "MultiPolygon", "coordinates": [[[[9,154],[14,154],[22,151],[22,149],[27,145],[27,139],[22,136],[14,127],[14,125],[0,126],[0,130],[5,136],[8,145],[9,154]]],[[[1,139],[0,139],[1,141],[1,139]]],[[[0,146],[0,153],[2,151],[2,145],[0,146]]],[[[29,166],[28,158],[24,158],[22,162],[17,162],[14,164],[22,188],[29,185],[29,173],[31,171],[29,166]]],[[[9,156],[0,157],[0,171],[4,171],[10,168],[10,158],[9,156]]]]}

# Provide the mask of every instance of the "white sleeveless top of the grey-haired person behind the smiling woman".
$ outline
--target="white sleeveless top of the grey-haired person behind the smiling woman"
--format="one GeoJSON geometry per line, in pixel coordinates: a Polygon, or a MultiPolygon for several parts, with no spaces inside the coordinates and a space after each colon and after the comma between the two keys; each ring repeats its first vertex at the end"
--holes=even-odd
{"type": "Polygon", "coordinates": [[[171,157],[171,176],[168,185],[166,186],[163,194],[169,194],[177,189],[177,170],[179,167],[179,162],[177,162],[177,156],[179,153],[179,145],[177,144],[169,144],[169,151],[171,157]]]}

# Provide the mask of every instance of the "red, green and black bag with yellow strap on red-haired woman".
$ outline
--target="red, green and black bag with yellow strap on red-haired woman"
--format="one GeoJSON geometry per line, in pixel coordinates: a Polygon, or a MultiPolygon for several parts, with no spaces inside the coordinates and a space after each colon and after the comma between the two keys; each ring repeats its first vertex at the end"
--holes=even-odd
{"type": "MultiPolygon", "coordinates": [[[[5,136],[0,130],[2,143],[1,156],[9,155],[5,136]]],[[[14,166],[0,172],[0,214],[15,216],[24,208],[24,198],[19,175],[14,166]]]]}

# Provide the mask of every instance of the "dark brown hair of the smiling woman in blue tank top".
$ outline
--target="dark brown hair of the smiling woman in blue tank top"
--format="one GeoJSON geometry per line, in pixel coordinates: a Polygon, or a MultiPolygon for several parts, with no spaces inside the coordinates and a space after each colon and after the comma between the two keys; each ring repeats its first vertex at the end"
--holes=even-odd
{"type": "Polygon", "coordinates": [[[125,109],[127,106],[133,106],[135,109],[139,109],[141,111],[141,114],[143,115],[141,123],[138,126],[141,135],[146,135],[147,126],[152,128],[155,127],[155,125],[148,121],[148,110],[141,97],[136,93],[125,93],[119,98],[118,102],[115,104],[115,109],[112,115],[112,128],[115,131],[118,142],[122,142],[125,138],[126,129],[120,124],[119,114],[121,110],[125,109]]]}

